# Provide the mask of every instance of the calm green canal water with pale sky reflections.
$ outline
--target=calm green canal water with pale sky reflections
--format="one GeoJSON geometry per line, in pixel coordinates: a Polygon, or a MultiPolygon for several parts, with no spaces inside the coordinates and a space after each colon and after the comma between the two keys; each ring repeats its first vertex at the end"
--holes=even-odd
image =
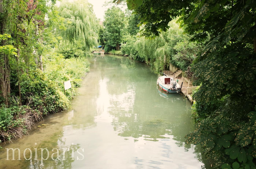
{"type": "Polygon", "coordinates": [[[0,168],[202,168],[198,148],[184,144],[184,136],[194,129],[190,103],[179,93],[161,93],[156,81],[145,63],[95,56],[71,108],[45,117],[29,136],[2,145],[0,168]],[[21,160],[18,150],[15,160],[9,150],[7,160],[6,148],[20,149],[21,160]],[[24,159],[26,148],[31,160],[24,159]],[[44,161],[46,149],[49,159],[44,161]]]}

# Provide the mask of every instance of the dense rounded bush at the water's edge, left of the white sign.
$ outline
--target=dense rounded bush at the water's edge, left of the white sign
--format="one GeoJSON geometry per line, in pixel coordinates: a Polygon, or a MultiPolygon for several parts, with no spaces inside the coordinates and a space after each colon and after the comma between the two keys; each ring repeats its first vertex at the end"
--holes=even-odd
{"type": "Polygon", "coordinates": [[[30,75],[21,76],[21,94],[25,96],[23,103],[37,109],[44,115],[68,108],[69,101],[41,70],[31,71],[30,75]]]}

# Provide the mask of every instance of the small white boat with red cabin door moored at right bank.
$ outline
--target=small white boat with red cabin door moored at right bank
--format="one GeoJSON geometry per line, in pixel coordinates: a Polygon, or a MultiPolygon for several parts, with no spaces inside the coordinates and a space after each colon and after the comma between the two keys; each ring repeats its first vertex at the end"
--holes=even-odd
{"type": "Polygon", "coordinates": [[[164,73],[158,75],[157,85],[166,93],[179,93],[181,91],[181,86],[172,77],[164,73]]]}

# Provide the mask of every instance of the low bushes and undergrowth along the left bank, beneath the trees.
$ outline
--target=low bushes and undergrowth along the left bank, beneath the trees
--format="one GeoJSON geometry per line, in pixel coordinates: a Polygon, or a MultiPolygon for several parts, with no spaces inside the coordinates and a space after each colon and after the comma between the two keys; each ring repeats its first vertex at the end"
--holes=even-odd
{"type": "Polygon", "coordinates": [[[10,105],[0,107],[0,143],[11,142],[27,135],[33,124],[43,120],[50,113],[69,108],[72,91],[64,92],[63,82],[70,80],[74,95],[81,86],[82,78],[89,72],[90,63],[85,58],[64,59],[64,56],[50,53],[44,57],[44,71],[32,71],[30,80],[22,79],[22,106],[10,98],[10,105]]]}

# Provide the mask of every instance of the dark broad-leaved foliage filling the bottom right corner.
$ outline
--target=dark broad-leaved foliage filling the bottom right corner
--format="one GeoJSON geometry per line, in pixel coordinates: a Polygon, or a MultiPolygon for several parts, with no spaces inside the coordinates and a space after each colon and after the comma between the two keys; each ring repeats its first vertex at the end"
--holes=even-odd
{"type": "MultiPolygon", "coordinates": [[[[256,107],[255,107],[256,110],[256,107]]],[[[222,168],[255,168],[256,111],[247,113],[246,122],[227,118],[223,113],[207,117],[198,123],[195,131],[187,135],[187,144],[199,144],[204,148],[206,157],[222,168]]]]}

